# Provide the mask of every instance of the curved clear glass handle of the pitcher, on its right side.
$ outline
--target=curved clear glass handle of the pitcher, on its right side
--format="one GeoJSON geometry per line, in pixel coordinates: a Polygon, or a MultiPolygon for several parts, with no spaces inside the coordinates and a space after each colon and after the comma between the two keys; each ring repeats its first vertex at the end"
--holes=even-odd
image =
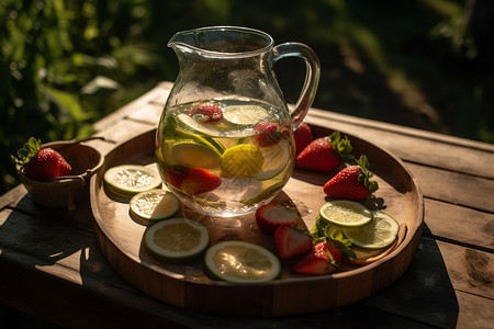
{"type": "Polygon", "coordinates": [[[272,65],[284,57],[302,57],[305,60],[305,81],[295,110],[290,114],[293,129],[296,129],[307,114],[314,101],[319,83],[321,64],[317,55],[308,46],[301,43],[284,43],[272,48],[272,65]]]}

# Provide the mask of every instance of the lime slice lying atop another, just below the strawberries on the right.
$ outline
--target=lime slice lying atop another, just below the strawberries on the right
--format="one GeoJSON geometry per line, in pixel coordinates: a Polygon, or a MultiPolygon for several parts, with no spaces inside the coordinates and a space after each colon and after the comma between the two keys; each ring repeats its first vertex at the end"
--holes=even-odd
{"type": "Polygon", "coordinates": [[[326,202],[319,215],[327,224],[345,228],[366,226],[372,220],[372,213],[364,205],[348,200],[326,202]]]}

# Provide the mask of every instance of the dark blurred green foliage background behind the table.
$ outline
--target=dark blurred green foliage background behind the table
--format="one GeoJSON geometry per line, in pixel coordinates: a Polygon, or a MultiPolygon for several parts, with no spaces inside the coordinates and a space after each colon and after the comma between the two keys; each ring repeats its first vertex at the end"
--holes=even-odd
{"type": "MultiPolygon", "coordinates": [[[[478,0],[479,1],[479,0],[478,0]]],[[[178,31],[242,25],[313,47],[314,106],[494,143],[494,81],[468,30],[473,1],[3,0],[0,3],[0,193],[30,136],[93,133],[92,123],[173,80],[178,31]]],[[[276,66],[289,102],[303,65],[276,66]]]]}

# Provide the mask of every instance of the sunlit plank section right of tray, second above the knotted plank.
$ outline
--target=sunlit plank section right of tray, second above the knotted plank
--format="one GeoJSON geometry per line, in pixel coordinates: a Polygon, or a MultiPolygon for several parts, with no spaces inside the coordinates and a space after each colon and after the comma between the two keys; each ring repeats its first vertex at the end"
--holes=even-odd
{"type": "Polygon", "coordinates": [[[452,204],[494,213],[494,183],[492,179],[405,163],[417,180],[424,196],[452,204]]]}

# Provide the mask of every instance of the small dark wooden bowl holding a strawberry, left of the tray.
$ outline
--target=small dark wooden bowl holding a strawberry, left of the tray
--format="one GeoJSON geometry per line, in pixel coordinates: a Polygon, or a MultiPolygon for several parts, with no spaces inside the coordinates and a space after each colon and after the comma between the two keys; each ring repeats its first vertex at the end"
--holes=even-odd
{"type": "Polygon", "coordinates": [[[58,151],[72,167],[72,175],[50,181],[35,181],[27,178],[18,166],[18,177],[34,201],[47,207],[67,207],[70,211],[89,196],[89,180],[103,164],[104,158],[94,148],[81,141],[53,141],[43,144],[58,151]]]}

